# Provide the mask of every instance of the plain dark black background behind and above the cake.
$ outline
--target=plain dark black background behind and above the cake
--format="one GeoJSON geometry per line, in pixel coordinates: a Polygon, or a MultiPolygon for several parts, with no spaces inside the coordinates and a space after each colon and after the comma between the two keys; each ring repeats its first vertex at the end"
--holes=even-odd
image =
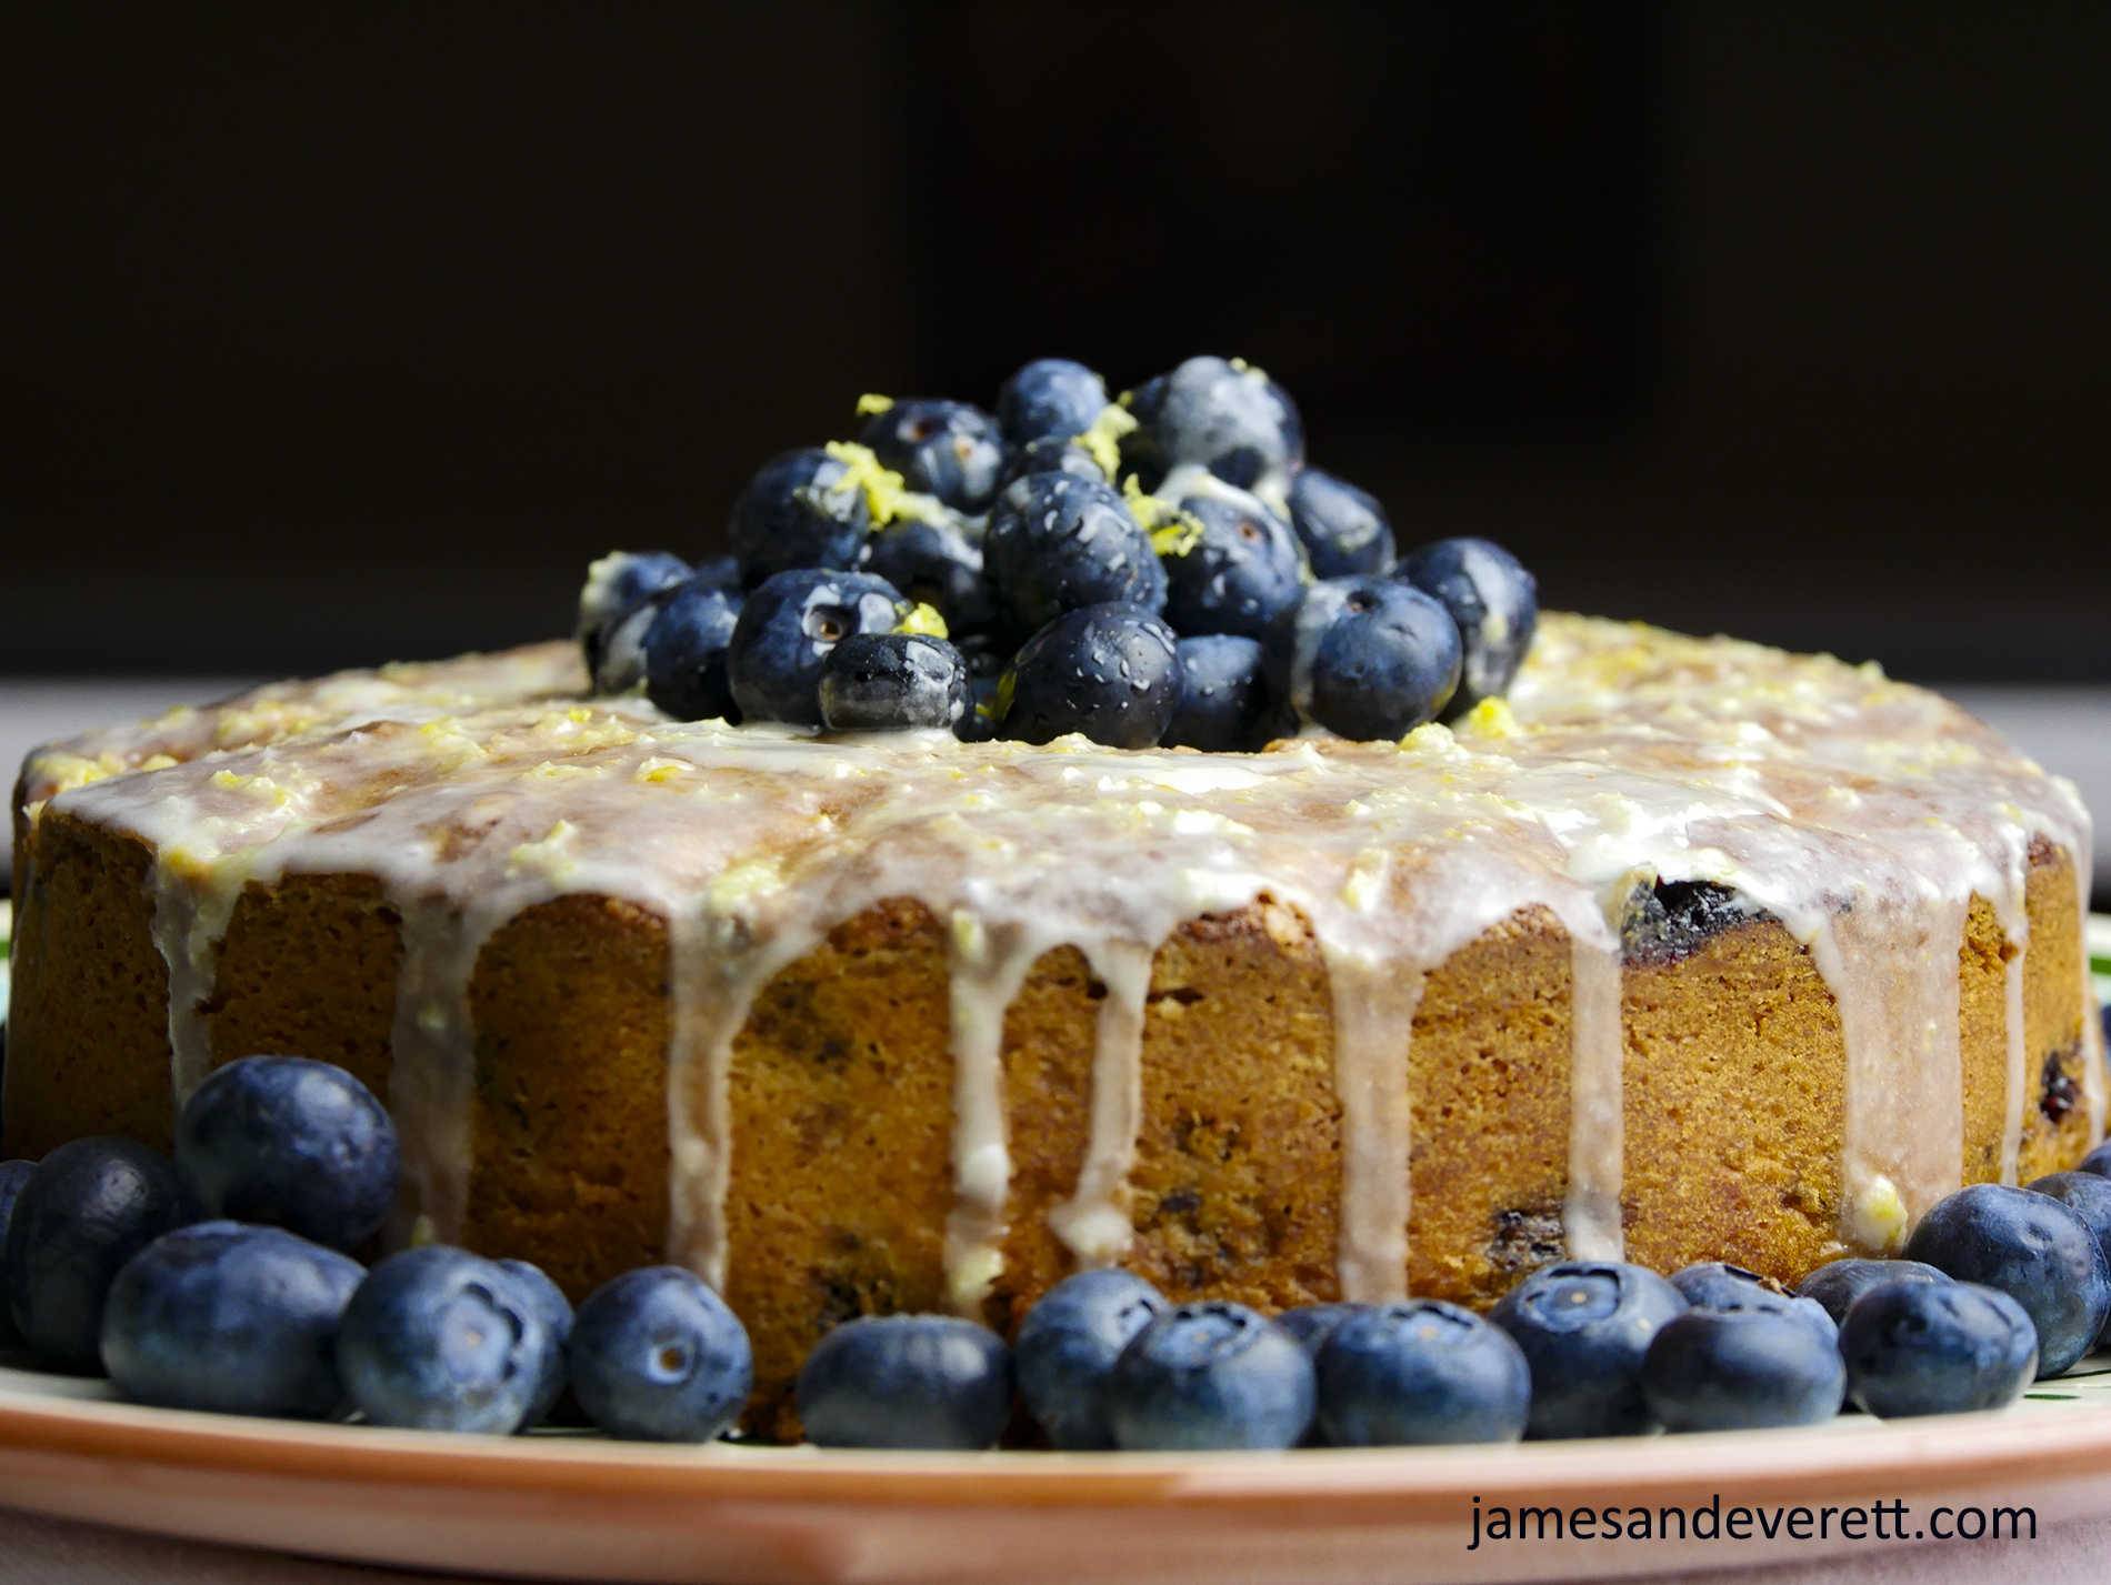
{"type": "Polygon", "coordinates": [[[861,390],[1243,355],[1404,542],[2111,677],[2100,4],[15,4],[0,669],[568,629],[861,390]]]}

